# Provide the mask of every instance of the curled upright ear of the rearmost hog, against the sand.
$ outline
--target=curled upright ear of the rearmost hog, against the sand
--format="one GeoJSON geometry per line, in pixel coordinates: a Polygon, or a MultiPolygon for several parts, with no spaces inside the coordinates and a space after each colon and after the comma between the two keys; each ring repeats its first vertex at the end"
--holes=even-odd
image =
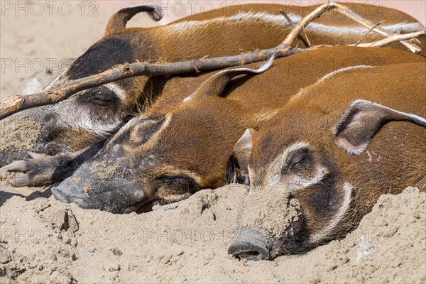
{"type": "Polygon", "coordinates": [[[161,9],[154,4],[138,4],[124,7],[116,11],[111,18],[109,18],[104,36],[123,31],[126,29],[126,23],[137,13],[141,12],[147,12],[148,16],[152,18],[153,21],[160,21],[161,18],[163,18],[161,9]]]}

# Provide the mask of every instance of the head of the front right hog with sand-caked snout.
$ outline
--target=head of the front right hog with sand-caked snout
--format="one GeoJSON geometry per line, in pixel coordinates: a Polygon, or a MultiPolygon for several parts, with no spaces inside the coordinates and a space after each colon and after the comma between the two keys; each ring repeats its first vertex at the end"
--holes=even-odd
{"type": "MultiPolygon", "coordinates": [[[[297,111],[297,107],[286,106],[259,131],[247,129],[236,143],[228,164],[228,181],[245,183],[252,192],[266,196],[272,195],[267,188],[278,186],[283,196],[288,192],[288,202],[297,200],[300,215],[288,225],[293,228],[292,234],[284,236],[273,236],[258,227],[243,229],[229,246],[230,254],[271,259],[344,236],[359,222],[361,209],[356,204],[373,199],[373,189],[364,192],[365,188],[356,187],[362,187],[363,182],[371,182],[373,187],[383,182],[382,175],[371,181],[363,174],[368,171],[363,167],[366,159],[359,156],[373,136],[387,121],[426,126],[420,116],[365,100],[354,101],[337,119],[328,119],[315,107],[304,106],[303,111],[297,111]],[[356,186],[354,180],[358,180],[356,186]]],[[[285,208],[277,207],[274,212],[287,214],[285,208]]]]}

